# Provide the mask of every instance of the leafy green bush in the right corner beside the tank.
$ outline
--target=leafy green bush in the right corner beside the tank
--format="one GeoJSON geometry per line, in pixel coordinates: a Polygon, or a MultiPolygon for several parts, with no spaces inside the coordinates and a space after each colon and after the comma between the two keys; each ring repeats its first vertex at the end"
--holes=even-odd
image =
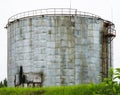
{"type": "Polygon", "coordinates": [[[105,78],[102,83],[98,85],[99,89],[96,89],[94,95],[120,95],[120,84],[115,81],[120,76],[120,69],[114,72],[114,69],[110,69],[108,78],[105,78]],[[116,76],[115,76],[116,75],[116,76]]]}

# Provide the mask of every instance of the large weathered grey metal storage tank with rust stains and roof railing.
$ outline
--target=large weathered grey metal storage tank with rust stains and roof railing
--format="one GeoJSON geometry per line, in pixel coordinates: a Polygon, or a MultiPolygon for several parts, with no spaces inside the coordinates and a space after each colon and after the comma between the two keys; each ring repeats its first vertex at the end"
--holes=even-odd
{"type": "Polygon", "coordinates": [[[114,24],[77,9],[41,9],[12,16],[8,86],[99,83],[112,66],[114,24]],[[22,75],[20,74],[21,70],[22,75]]]}

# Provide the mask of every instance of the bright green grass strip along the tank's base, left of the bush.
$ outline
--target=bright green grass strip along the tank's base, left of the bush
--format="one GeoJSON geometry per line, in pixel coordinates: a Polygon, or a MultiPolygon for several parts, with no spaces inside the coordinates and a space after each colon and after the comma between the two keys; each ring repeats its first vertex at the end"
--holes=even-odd
{"type": "Polygon", "coordinates": [[[0,95],[93,95],[95,85],[56,86],[43,88],[0,88],[0,95]]]}

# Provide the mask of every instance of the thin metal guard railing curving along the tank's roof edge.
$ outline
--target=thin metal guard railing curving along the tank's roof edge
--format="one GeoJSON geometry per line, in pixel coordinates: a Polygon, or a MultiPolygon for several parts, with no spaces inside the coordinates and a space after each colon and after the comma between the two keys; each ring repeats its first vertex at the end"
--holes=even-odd
{"type": "Polygon", "coordinates": [[[32,10],[32,11],[26,11],[22,13],[18,13],[16,15],[13,15],[8,19],[8,23],[12,22],[14,20],[24,18],[24,17],[30,17],[30,16],[37,16],[37,15],[81,15],[81,16],[92,16],[96,18],[100,18],[97,15],[94,15],[89,12],[82,12],[77,11],[77,9],[71,9],[71,8],[49,8],[49,9],[38,9],[38,10],[32,10]]]}

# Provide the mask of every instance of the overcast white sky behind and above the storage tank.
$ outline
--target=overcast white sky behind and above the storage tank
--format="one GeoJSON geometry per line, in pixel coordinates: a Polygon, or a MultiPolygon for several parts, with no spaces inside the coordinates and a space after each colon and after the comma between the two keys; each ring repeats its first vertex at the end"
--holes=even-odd
{"type": "MultiPolygon", "coordinates": [[[[29,10],[69,7],[70,0],[0,1],[0,81],[7,77],[7,31],[4,27],[8,18],[29,10]]],[[[117,37],[114,39],[114,67],[120,67],[120,0],[71,0],[71,7],[113,21],[117,31],[117,37]]]]}

